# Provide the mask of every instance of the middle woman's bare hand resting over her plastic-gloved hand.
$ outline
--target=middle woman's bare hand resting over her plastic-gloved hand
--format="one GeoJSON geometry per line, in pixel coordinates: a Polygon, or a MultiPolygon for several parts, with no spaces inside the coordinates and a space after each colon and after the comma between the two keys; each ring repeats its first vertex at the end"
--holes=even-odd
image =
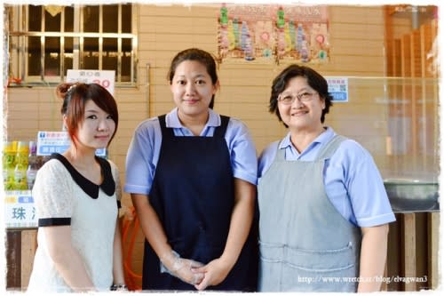
{"type": "Polygon", "coordinates": [[[231,268],[230,264],[220,258],[210,261],[202,268],[192,268],[194,274],[203,274],[201,283],[194,284],[194,287],[199,291],[203,291],[211,285],[222,283],[226,276],[228,276],[231,268]]]}

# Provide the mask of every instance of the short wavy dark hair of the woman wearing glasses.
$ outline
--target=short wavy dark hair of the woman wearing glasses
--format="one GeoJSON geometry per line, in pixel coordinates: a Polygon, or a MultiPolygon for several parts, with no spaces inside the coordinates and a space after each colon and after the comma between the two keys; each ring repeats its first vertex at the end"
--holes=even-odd
{"type": "MultiPolygon", "coordinates": [[[[322,110],[321,114],[321,123],[323,124],[325,121],[325,115],[329,113],[329,108],[333,105],[333,97],[329,94],[329,84],[327,84],[327,80],[321,76],[321,74],[313,70],[313,68],[299,66],[297,64],[292,64],[289,65],[289,67],[284,68],[273,80],[268,110],[270,113],[275,113],[276,116],[278,116],[279,121],[282,122],[281,115],[279,114],[279,108],[277,107],[277,98],[279,94],[285,90],[289,80],[297,76],[305,77],[308,85],[319,93],[320,98],[325,100],[325,108],[322,110]]],[[[283,124],[288,127],[287,124],[283,124]]]]}

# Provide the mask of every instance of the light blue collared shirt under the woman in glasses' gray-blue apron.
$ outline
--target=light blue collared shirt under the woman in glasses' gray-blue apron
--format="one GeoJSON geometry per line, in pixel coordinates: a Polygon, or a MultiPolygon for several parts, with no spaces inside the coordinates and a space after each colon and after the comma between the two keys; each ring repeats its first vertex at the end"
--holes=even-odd
{"type": "MultiPolygon", "coordinates": [[[[258,182],[273,164],[278,148],[285,149],[285,160],[313,161],[320,149],[335,135],[333,129],[327,128],[299,154],[288,133],[281,143],[275,141],[262,152],[258,164],[258,182]]],[[[342,142],[335,154],[326,161],[323,176],[330,202],[354,225],[373,227],[395,220],[377,165],[369,151],[358,142],[350,139],[342,142]]]]}

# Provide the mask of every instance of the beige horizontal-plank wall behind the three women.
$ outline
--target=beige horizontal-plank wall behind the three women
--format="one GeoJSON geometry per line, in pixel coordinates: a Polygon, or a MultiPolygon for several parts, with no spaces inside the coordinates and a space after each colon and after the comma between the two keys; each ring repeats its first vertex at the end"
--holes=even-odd
{"type": "MultiPolygon", "coordinates": [[[[110,158],[121,170],[123,183],[132,132],[147,117],[173,108],[166,79],[172,57],[188,47],[200,47],[216,54],[218,46],[218,4],[135,6],[139,30],[138,85],[115,89],[120,123],[109,150],[110,158]]],[[[383,7],[329,6],[329,37],[329,62],[313,68],[324,76],[351,78],[350,102],[335,104],[326,116],[326,124],[360,141],[375,156],[377,165],[386,168],[388,108],[386,104],[375,103],[384,95],[383,7]],[[369,82],[366,78],[370,77],[376,79],[369,82]]],[[[267,112],[272,79],[286,66],[228,61],[219,66],[221,89],[216,96],[215,110],[242,119],[250,127],[258,153],[286,133],[276,117],[267,112]]],[[[56,99],[53,87],[9,88],[5,99],[8,140],[32,140],[37,131],[59,131],[61,101],[56,99]]],[[[127,194],[123,204],[131,207],[127,194]]],[[[141,273],[142,246],[143,238],[138,233],[130,262],[136,274],[141,273]]]]}

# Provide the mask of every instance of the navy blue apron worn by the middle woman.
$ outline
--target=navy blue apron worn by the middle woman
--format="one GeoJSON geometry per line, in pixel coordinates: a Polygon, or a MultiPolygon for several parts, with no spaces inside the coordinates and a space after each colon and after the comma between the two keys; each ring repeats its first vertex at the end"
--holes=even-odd
{"type": "MultiPolygon", "coordinates": [[[[150,204],[162,222],[172,250],[180,257],[207,264],[222,254],[234,206],[234,177],[226,146],[229,117],[213,137],[176,137],[159,116],[162,147],[150,204]]],[[[252,228],[239,260],[226,280],[207,290],[254,291],[257,287],[257,228],[252,228]],[[253,230],[254,229],[254,230],[253,230]]],[[[159,258],[145,241],[143,290],[195,290],[175,276],[160,272],[159,258]]]]}

